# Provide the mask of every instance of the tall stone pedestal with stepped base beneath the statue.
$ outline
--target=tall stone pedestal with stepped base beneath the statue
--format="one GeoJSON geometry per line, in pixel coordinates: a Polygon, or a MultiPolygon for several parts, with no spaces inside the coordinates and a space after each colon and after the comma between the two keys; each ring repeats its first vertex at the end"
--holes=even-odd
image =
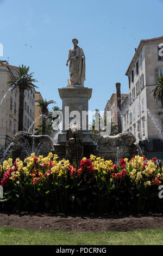
{"type": "MultiPolygon", "coordinates": [[[[92,89],[85,88],[84,86],[71,86],[68,85],[64,88],[59,88],[59,96],[62,99],[62,114],[63,114],[63,129],[58,135],[58,144],[54,145],[55,153],[59,158],[68,158],[68,154],[73,154],[74,159],[81,157],[90,157],[90,154],[96,154],[96,147],[92,142],[92,136],[89,132],[88,110],[89,99],[92,96],[92,89]],[[78,150],[76,146],[70,147],[67,145],[66,130],[70,122],[76,122],[83,130],[82,145],[78,150]],[[79,156],[80,155],[80,156],[79,156]]],[[[72,158],[72,157],[71,157],[72,158]]],[[[73,159],[70,159],[71,161],[73,159]]]]}

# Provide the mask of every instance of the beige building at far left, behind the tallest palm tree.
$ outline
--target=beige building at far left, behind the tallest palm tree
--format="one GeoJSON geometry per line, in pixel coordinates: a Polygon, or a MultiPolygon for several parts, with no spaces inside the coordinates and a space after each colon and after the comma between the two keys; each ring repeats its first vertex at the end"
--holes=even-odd
{"type": "MultiPolygon", "coordinates": [[[[18,67],[7,61],[0,61],[0,151],[3,152],[18,132],[19,90],[8,91],[7,82],[17,75],[18,67]],[[5,96],[6,95],[6,96],[5,96]],[[3,99],[3,97],[5,97],[3,99]]],[[[28,130],[34,122],[35,90],[24,92],[23,130],[28,130]]]]}

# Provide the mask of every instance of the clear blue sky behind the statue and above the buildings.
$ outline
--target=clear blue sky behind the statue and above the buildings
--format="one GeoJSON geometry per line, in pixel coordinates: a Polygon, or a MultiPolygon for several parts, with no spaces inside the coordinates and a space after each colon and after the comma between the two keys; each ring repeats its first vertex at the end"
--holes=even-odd
{"type": "Polygon", "coordinates": [[[116,82],[125,76],[141,39],[160,37],[162,0],[0,0],[0,43],[9,64],[30,66],[43,98],[61,107],[58,88],[69,78],[72,38],[86,56],[85,87],[93,88],[90,110],[104,110],[116,82]]]}

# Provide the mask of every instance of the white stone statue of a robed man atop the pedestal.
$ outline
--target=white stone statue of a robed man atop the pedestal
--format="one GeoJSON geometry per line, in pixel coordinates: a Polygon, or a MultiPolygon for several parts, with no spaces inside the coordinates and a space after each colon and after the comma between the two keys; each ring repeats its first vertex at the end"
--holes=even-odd
{"type": "Polygon", "coordinates": [[[84,86],[85,81],[85,55],[82,47],[78,46],[78,40],[72,39],[74,47],[69,50],[66,66],[70,61],[70,81],[71,85],[84,86]]]}

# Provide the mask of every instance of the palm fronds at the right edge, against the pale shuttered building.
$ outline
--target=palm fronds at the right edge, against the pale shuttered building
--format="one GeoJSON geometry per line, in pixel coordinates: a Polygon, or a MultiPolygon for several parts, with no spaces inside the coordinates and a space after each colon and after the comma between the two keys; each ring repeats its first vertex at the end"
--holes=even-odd
{"type": "Polygon", "coordinates": [[[156,102],[161,102],[161,108],[163,108],[163,75],[158,76],[156,87],[152,92],[156,102]]]}

